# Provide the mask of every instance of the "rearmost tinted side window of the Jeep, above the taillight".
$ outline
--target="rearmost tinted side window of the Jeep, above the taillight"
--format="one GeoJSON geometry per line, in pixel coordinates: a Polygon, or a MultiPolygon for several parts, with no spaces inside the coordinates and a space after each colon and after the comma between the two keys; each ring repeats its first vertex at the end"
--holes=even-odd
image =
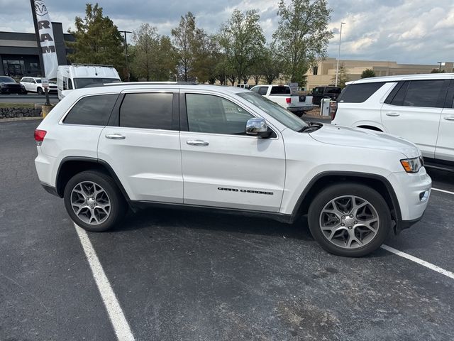
{"type": "Polygon", "coordinates": [[[114,108],[117,94],[101,94],[79,99],[66,115],[63,123],[106,126],[114,108]]]}

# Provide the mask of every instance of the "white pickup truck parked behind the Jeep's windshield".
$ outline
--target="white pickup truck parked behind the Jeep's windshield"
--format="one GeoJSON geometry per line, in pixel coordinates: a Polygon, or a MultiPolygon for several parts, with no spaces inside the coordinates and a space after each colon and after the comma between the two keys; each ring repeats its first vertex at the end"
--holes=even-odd
{"type": "Polygon", "coordinates": [[[293,112],[297,117],[301,117],[305,112],[314,108],[312,96],[292,94],[288,85],[255,85],[251,91],[267,97],[270,101],[293,112]]]}

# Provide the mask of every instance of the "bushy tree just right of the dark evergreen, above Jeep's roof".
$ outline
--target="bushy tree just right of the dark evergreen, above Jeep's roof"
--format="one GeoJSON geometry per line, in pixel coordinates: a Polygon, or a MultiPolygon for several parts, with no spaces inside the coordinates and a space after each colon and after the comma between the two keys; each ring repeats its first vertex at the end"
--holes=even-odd
{"type": "Polygon", "coordinates": [[[133,32],[133,74],[147,81],[169,80],[176,72],[177,55],[170,38],[143,23],[133,32]]]}

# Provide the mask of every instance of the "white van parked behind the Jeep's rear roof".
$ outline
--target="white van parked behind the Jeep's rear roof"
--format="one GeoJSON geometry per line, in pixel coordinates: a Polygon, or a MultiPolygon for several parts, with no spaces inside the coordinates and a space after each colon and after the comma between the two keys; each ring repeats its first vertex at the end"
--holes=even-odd
{"type": "Polygon", "coordinates": [[[74,89],[115,82],[121,82],[121,80],[117,70],[112,65],[60,65],[57,70],[58,99],[62,99],[74,89]]]}

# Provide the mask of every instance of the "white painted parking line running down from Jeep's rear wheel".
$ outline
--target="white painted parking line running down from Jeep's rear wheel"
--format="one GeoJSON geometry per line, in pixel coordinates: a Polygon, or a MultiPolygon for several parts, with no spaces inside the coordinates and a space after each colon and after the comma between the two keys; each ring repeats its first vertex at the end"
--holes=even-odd
{"type": "Polygon", "coordinates": [[[90,242],[87,232],[85,232],[82,227],[77,226],[77,224],[74,224],[74,227],[76,228],[80,243],[84,249],[85,256],[87,256],[90,269],[92,269],[94,281],[96,282],[96,286],[98,286],[99,293],[101,293],[102,301],[106,306],[109,319],[114,326],[118,341],[134,341],[133,332],[131,332],[131,328],[129,327],[128,321],[126,320],[123,310],[121,309],[120,303],[118,303],[115,293],[112,290],[109,278],[107,278],[104,273],[104,269],[102,269],[98,256],[96,256],[96,251],[94,251],[92,242],[90,242]]]}

